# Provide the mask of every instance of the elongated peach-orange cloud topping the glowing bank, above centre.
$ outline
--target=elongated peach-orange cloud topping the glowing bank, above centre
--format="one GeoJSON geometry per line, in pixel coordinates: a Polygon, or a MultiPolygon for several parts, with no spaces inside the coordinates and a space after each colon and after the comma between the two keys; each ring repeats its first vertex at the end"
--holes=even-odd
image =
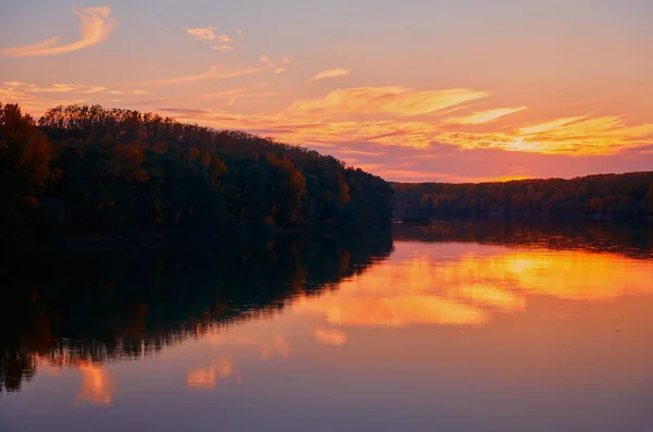
{"type": "Polygon", "coordinates": [[[288,109],[295,115],[389,114],[424,115],[464,102],[482,99],[485,91],[468,89],[416,91],[405,87],[355,87],[337,89],[325,97],[297,100],[288,109]]]}

